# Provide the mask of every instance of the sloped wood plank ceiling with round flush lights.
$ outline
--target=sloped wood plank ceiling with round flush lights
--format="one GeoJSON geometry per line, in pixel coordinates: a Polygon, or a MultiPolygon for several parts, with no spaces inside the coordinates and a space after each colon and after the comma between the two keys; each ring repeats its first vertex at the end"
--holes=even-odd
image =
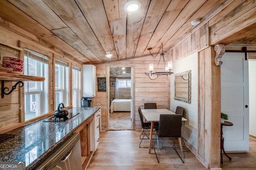
{"type": "Polygon", "coordinates": [[[168,51],[195,27],[191,21],[226,1],[140,0],[137,12],[127,13],[128,0],[1,0],[0,17],[92,64],[148,55],[150,47],[157,53],[161,43],[168,51]]]}

